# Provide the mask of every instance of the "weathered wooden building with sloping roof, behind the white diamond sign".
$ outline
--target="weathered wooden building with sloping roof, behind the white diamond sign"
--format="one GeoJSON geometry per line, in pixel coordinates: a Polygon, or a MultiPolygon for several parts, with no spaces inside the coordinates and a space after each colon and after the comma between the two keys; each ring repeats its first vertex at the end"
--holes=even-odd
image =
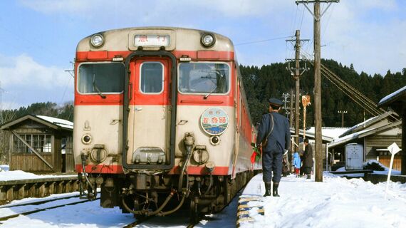
{"type": "MultiPolygon", "coordinates": [[[[402,121],[399,116],[389,111],[382,115],[375,116],[363,123],[353,126],[339,138],[328,144],[328,150],[332,152],[335,162],[345,162],[345,145],[357,143],[363,145],[363,160],[378,160],[382,165],[389,167],[390,152],[387,147],[393,142],[401,145],[402,121]]],[[[402,153],[395,156],[393,169],[400,170],[400,157],[402,153]]]]}

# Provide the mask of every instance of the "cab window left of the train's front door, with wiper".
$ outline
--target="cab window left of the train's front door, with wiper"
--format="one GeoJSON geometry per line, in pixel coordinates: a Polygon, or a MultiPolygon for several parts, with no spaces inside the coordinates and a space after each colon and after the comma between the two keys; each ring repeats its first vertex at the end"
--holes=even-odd
{"type": "Polygon", "coordinates": [[[104,96],[105,93],[123,92],[123,63],[83,63],[79,66],[78,74],[79,93],[104,96]]]}

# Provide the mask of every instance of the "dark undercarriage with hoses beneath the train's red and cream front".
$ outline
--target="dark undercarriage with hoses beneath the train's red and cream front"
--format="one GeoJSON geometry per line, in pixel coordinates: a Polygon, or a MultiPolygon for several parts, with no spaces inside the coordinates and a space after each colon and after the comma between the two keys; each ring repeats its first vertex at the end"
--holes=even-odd
{"type": "Polygon", "coordinates": [[[137,218],[165,216],[186,208],[191,222],[197,222],[204,214],[220,212],[255,174],[239,172],[234,179],[229,175],[88,174],[79,179],[82,197],[95,199],[95,190],[100,188],[104,208],[120,207],[137,218]]]}

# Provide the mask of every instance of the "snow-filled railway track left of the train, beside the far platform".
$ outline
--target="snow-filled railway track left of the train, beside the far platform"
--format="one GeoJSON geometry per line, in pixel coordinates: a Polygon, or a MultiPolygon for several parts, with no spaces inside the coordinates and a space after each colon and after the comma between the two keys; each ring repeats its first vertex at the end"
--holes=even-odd
{"type": "Polygon", "coordinates": [[[73,195],[68,197],[45,199],[35,202],[5,205],[0,207],[0,214],[3,214],[3,216],[0,217],[0,221],[5,221],[7,219],[19,217],[20,215],[34,214],[37,212],[43,212],[48,209],[55,209],[58,207],[66,207],[75,204],[82,204],[89,201],[90,201],[89,199],[79,199],[78,195],[73,195]]]}

